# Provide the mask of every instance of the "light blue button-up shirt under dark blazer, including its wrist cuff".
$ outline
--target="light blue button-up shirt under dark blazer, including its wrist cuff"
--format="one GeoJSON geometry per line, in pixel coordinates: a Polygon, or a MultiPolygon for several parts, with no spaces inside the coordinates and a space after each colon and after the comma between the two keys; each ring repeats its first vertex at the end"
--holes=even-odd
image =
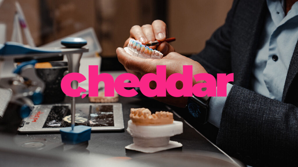
{"type": "MultiPolygon", "coordinates": [[[[252,89],[275,100],[282,100],[285,78],[298,40],[298,2],[285,15],[283,0],[267,0],[260,46],[252,68],[252,89]]],[[[229,94],[232,84],[227,84],[229,94]]],[[[211,97],[208,121],[219,127],[226,97],[211,97]]],[[[245,101],[243,101],[245,103],[245,101]]]]}

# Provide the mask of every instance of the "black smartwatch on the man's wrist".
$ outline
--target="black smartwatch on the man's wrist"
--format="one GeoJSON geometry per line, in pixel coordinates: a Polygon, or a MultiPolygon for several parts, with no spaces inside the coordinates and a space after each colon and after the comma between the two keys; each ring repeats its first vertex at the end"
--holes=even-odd
{"type": "MultiPolygon", "coordinates": [[[[206,88],[202,88],[202,91],[204,91],[204,89],[206,90],[206,88]]],[[[197,97],[195,95],[188,97],[188,112],[195,117],[200,124],[205,124],[208,121],[209,101],[210,97],[207,95],[204,97],[197,97]]]]}

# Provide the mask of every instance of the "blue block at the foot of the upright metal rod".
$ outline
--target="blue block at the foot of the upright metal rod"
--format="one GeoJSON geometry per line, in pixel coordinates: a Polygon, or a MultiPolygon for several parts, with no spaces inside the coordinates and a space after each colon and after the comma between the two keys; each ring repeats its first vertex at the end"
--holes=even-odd
{"type": "Polygon", "coordinates": [[[90,140],[91,127],[78,125],[74,127],[63,127],[60,129],[60,134],[63,143],[78,144],[90,140]]]}

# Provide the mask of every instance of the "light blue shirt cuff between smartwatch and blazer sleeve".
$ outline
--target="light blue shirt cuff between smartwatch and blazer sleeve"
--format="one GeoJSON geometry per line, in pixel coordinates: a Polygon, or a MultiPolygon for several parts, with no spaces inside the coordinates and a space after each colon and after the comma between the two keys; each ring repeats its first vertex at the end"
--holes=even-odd
{"type": "MultiPolygon", "coordinates": [[[[226,95],[228,96],[230,90],[232,89],[232,84],[227,83],[226,85],[226,95]]],[[[217,91],[216,91],[217,92],[217,91]]],[[[209,102],[209,116],[208,122],[219,128],[221,123],[221,114],[224,109],[224,104],[226,103],[226,97],[211,97],[209,102]]]]}

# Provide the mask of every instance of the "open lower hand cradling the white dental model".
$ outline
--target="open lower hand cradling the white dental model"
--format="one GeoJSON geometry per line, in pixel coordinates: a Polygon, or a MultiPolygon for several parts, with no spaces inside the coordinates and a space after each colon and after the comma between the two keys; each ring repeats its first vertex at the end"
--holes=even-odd
{"type": "MultiPolygon", "coordinates": [[[[204,67],[201,66],[200,63],[182,56],[179,53],[171,52],[164,56],[162,59],[142,59],[140,57],[131,56],[126,53],[123,48],[117,48],[116,50],[118,60],[121,64],[124,65],[126,69],[132,71],[134,73],[139,73],[141,76],[147,73],[155,73],[156,74],[156,66],[157,65],[166,65],[167,67],[167,77],[169,77],[173,73],[183,73],[183,65],[192,65],[193,66],[193,75],[199,73],[207,73],[204,67]]],[[[199,81],[200,82],[200,81],[199,81]]],[[[193,85],[196,83],[193,78],[193,85]]],[[[152,89],[155,88],[154,84],[150,84],[152,89]]],[[[176,83],[177,89],[182,88],[182,82],[176,83]]],[[[154,97],[156,100],[159,100],[163,103],[167,103],[170,105],[175,105],[178,107],[185,107],[187,104],[188,97],[172,97],[167,93],[167,97],[154,97]]]]}

